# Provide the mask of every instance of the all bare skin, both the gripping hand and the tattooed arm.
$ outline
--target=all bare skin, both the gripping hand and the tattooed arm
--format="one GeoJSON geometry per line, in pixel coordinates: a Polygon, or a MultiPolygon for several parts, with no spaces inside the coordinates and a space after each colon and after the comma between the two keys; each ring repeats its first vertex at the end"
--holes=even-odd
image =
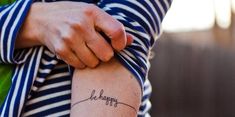
{"type": "Polygon", "coordinates": [[[32,5],[16,48],[44,45],[77,68],[72,79],[72,117],[135,117],[141,102],[140,86],[113,58],[115,51],[131,42],[132,36],[125,32],[124,26],[98,7],[53,2],[32,5]],[[100,35],[101,31],[111,44],[100,35]],[[111,98],[116,103],[106,105],[111,98]],[[87,100],[80,103],[84,99],[87,100]]]}

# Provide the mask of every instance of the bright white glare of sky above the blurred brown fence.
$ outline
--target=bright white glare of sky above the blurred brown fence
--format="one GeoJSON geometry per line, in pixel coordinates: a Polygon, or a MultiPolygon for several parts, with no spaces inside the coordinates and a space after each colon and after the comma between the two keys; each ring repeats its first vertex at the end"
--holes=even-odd
{"type": "Polygon", "coordinates": [[[213,27],[214,22],[213,0],[174,0],[163,29],[168,32],[205,30],[213,27]]]}

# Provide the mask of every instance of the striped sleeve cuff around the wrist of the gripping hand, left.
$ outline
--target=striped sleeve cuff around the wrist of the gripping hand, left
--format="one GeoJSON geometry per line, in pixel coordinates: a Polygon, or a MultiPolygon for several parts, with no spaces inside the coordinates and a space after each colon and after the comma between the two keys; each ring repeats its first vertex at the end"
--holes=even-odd
{"type": "Polygon", "coordinates": [[[23,49],[15,51],[17,33],[28,13],[32,0],[16,0],[16,2],[0,6],[0,63],[21,64],[30,55],[23,49]]]}

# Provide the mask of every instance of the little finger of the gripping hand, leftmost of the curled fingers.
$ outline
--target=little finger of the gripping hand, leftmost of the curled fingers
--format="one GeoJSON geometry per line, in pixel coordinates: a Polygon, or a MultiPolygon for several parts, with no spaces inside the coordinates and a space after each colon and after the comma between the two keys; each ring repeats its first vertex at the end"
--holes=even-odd
{"type": "Polygon", "coordinates": [[[55,53],[67,64],[79,69],[85,68],[83,62],[64,43],[57,44],[55,53]]]}

